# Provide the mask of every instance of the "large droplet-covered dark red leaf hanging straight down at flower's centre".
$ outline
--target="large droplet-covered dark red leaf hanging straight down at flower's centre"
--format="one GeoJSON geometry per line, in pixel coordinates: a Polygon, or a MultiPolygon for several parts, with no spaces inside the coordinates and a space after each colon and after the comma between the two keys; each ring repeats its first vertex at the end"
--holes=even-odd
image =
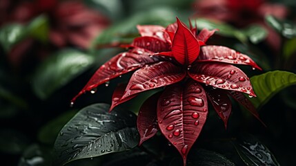
{"type": "Polygon", "coordinates": [[[203,87],[190,80],[168,86],[157,102],[157,120],[161,133],[174,145],[184,166],[188,151],[197,140],[208,115],[208,102],[203,87]]]}

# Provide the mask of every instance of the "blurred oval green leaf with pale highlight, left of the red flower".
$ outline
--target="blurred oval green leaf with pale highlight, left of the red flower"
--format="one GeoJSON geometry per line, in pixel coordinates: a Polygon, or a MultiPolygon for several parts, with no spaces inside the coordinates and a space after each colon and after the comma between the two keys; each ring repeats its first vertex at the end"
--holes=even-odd
{"type": "Polygon", "coordinates": [[[73,49],[65,49],[48,57],[37,68],[32,78],[34,93],[41,99],[48,98],[77,75],[86,71],[94,58],[73,49]]]}

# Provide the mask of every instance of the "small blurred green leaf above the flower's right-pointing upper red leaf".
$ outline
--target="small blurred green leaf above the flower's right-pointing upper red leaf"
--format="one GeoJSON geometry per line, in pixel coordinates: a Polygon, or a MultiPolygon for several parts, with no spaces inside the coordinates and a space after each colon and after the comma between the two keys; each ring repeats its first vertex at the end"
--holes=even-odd
{"type": "Polygon", "coordinates": [[[243,32],[246,36],[248,36],[250,42],[252,42],[253,44],[258,44],[259,42],[262,42],[262,40],[264,40],[267,36],[266,29],[255,24],[248,26],[248,28],[244,28],[243,32]]]}

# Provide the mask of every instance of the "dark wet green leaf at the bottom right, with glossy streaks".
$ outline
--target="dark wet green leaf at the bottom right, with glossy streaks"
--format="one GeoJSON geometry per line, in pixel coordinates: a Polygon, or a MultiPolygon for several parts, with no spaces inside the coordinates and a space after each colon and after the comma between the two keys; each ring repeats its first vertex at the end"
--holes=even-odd
{"type": "Polygon", "coordinates": [[[237,153],[246,165],[279,166],[270,150],[253,136],[244,135],[234,145],[237,153]]]}

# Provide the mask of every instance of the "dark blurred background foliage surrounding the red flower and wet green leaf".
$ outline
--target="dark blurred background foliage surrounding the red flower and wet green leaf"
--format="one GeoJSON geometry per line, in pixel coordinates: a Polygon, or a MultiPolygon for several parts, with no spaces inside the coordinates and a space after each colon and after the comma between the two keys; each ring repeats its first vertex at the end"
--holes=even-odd
{"type": "MultiPolygon", "coordinates": [[[[128,81],[123,75],[70,107],[92,73],[139,36],[137,24],[167,26],[175,17],[199,30],[218,28],[209,44],[234,48],[263,68],[241,67],[256,75],[251,80],[262,94],[250,100],[267,127],[234,104],[225,130],[210,108],[188,165],[296,165],[295,9],[294,0],[1,0],[0,165],[50,165],[62,127],[83,107],[110,104],[115,86],[128,81]],[[255,145],[261,149],[250,149],[255,145]]],[[[152,93],[121,107],[137,113],[152,93]]],[[[150,151],[136,147],[68,165],[181,164],[159,135],[143,146],[150,151]]]]}

